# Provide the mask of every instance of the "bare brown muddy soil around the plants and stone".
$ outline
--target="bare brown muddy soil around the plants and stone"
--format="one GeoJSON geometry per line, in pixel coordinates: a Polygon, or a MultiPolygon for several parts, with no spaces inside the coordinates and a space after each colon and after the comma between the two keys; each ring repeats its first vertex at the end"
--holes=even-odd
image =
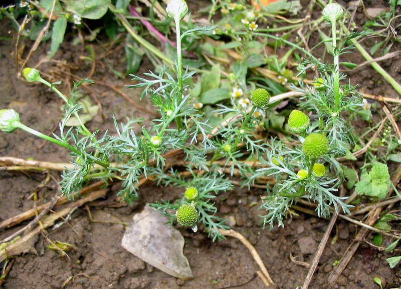
{"type": "MultiPolygon", "coordinates": [[[[367,7],[381,7],[385,3],[365,1],[364,4],[367,7]]],[[[306,3],[304,7],[307,7],[306,3]]],[[[355,18],[359,23],[366,20],[362,9],[358,9],[355,18]]],[[[62,117],[60,110],[62,101],[44,85],[18,79],[15,42],[12,39],[13,34],[8,33],[12,26],[6,19],[1,20],[0,25],[1,35],[9,37],[0,41],[0,108],[14,108],[20,111],[23,123],[48,134],[52,131],[57,133],[58,123],[62,117]]],[[[152,110],[150,102],[145,98],[139,100],[140,91],[123,87],[130,84],[130,78],[117,78],[102,61],[102,55],[105,53],[104,44],[108,44],[107,38],[100,35],[102,44],[96,41],[90,43],[97,55],[96,67],[93,67],[92,63],[80,57],[89,55],[84,45],[72,45],[76,36],[73,32],[69,32],[57,54],[52,60],[43,63],[40,69],[43,71],[43,76],[50,81],[63,78],[64,82],[60,89],[66,92],[71,88],[72,81],[76,80],[74,75],[90,76],[95,80],[95,84],[83,88],[93,102],[101,104],[100,113],[88,123],[89,129],[92,131],[109,129],[110,134],[115,133],[112,115],[115,115],[118,121],[124,121],[125,116],[131,114],[137,118],[153,117],[146,112],[152,110]],[[90,75],[93,68],[94,73],[90,75]],[[123,90],[131,101],[112,90],[112,86],[123,90]]],[[[372,41],[374,40],[362,44],[369,47],[372,41]]],[[[25,52],[21,51],[24,54],[32,46],[32,42],[26,39],[22,39],[22,42],[26,45],[25,52]]],[[[49,43],[41,44],[28,62],[28,66],[36,65],[46,55],[49,47],[49,43]]],[[[121,46],[107,56],[110,64],[120,71],[125,67],[124,59],[119,56],[123,52],[122,49],[121,46]]],[[[391,51],[393,50],[400,50],[399,43],[393,46],[391,51]]],[[[380,62],[398,81],[401,81],[400,57],[398,54],[394,58],[380,62]]],[[[358,53],[352,54],[352,60],[355,63],[364,61],[358,53]]],[[[153,67],[144,59],[137,74],[140,75],[149,69],[153,67]]],[[[348,75],[353,84],[359,83],[362,92],[395,98],[399,96],[369,65],[358,71],[349,72],[348,75]]],[[[382,105],[382,102],[377,102],[378,107],[382,105]]],[[[365,128],[360,127],[360,129],[365,128]]],[[[69,161],[68,151],[65,149],[44,142],[22,130],[12,134],[0,133],[0,155],[51,162],[69,161]]],[[[360,162],[355,161],[354,165],[358,167],[360,162]]],[[[395,167],[394,163],[389,165],[395,167]]],[[[0,171],[2,200],[0,220],[4,221],[35,207],[33,199],[35,193],[40,203],[52,200],[58,194],[57,180],[60,179],[60,172],[49,173],[52,178],[45,183],[47,172],[0,171]]],[[[161,198],[173,199],[176,197],[176,191],[151,183],[145,184],[140,188],[140,200],[134,202],[133,206],[121,203],[116,197],[118,191],[119,183],[110,185],[103,200],[95,200],[86,206],[77,207],[69,215],[68,223],[58,220],[57,223],[60,225],[57,228],[51,226],[47,229],[48,237],[53,241],[73,245],[68,251],[68,257],[62,257],[57,251],[47,248],[46,238],[39,233],[30,252],[13,256],[15,261],[5,279],[4,288],[226,288],[237,285],[244,289],[265,287],[262,279],[256,275],[259,267],[249,251],[237,239],[231,237],[213,242],[205,233],[194,233],[191,229],[179,227],[185,237],[184,253],[195,276],[191,280],[180,280],[169,276],[133,256],[121,246],[125,229],[123,222],[129,222],[145,202],[155,202],[161,198]],[[89,212],[95,221],[90,218],[89,212]],[[110,223],[110,220],[113,223],[110,223]]],[[[232,227],[255,246],[277,288],[301,287],[308,272],[305,264],[311,263],[326,231],[328,220],[299,212],[299,216],[285,221],[285,228],[263,230],[258,216],[262,212],[258,211],[259,205],[255,205],[260,202],[260,195],[263,193],[263,189],[253,188],[248,191],[239,187],[234,191],[223,193],[216,199],[219,214],[235,219],[235,225],[232,227]]],[[[62,206],[54,209],[58,211],[61,208],[62,206]]],[[[397,208],[399,204],[393,209],[397,208]]],[[[27,223],[26,221],[19,226],[3,230],[1,238],[12,234],[27,223]]],[[[396,224],[394,225],[394,228],[397,228],[396,224]]],[[[337,220],[310,288],[327,287],[328,276],[334,269],[333,264],[340,259],[359,230],[360,227],[355,224],[342,219],[337,220]]],[[[381,276],[387,283],[395,283],[399,287],[400,267],[390,269],[385,261],[393,253],[386,253],[373,247],[369,244],[371,239],[372,233],[368,233],[366,239],[361,240],[359,249],[338,278],[334,288],[379,288],[373,282],[375,276],[381,276]]],[[[382,246],[388,245],[393,240],[385,238],[382,246]]]]}

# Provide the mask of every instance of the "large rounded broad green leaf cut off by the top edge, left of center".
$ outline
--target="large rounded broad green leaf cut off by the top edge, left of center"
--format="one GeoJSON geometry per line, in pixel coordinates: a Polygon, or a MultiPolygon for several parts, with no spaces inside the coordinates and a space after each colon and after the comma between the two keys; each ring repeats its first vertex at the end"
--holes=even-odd
{"type": "Polygon", "coordinates": [[[100,19],[110,4],[111,0],[67,0],[67,10],[82,18],[100,19]]]}

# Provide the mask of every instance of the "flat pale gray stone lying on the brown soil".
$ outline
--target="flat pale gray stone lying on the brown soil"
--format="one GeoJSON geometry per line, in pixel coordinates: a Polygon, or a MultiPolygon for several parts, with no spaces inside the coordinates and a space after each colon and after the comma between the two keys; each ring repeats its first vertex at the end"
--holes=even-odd
{"type": "Polygon", "coordinates": [[[184,237],[166,217],[148,204],[136,213],[122,237],[122,246],[152,266],[181,279],[194,278],[183,254],[184,237]]]}

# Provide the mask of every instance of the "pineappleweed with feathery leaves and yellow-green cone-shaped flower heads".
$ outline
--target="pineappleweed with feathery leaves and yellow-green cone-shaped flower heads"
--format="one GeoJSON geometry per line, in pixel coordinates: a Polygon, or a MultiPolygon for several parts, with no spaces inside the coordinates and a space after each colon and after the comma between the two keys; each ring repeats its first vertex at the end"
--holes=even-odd
{"type": "MultiPolygon", "coordinates": [[[[258,137],[255,123],[264,115],[270,100],[269,92],[263,88],[252,92],[253,106],[249,110],[238,107],[234,101],[231,106],[221,104],[216,113],[231,115],[232,121],[212,133],[208,120],[204,120],[203,114],[190,104],[190,95],[185,95],[184,81],[191,78],[195,71],[182,69],[181,39],[192,33],[209,32],[214,27],[196,27],[181,33],[180,20],[188,11],[185,1],[170,1],[166,11],[173,18],[177,32],[176,77],[163,66],[159,74],[151,71],[145,73],[150,79],[132,75],[139,83],[127,85],[131,88],[144,88],[141,97],[149,97],[159,112],[160,118],[153,119],[150,127],[141,126],[140,132],[135,133],[133,128],[140,124],[139,119],[129,119],[126,123],[114,120],[117,135],[109,135],[106,131],[100,137],[99,131],[90,132],[80,120],[82,107],[75,97],[79,86],[90,80],[74,83],[74,89],[70,97],[67,97],[55,87],[55,83],[43,79],[38,70],[26,68],[24,76],[28,81],[48,85],[65,101],[66,113],[60,123],[60,136],[47,136],[22,124],[18,112],[12,109],[0,111],[0,128],[7,132],[21,128],[71,151],[74,167],[66,169],[60,182],[62,193],[68,197],[72,197],[74,191],[79,191],[91,179],[102,179],[105,183],[111,178],[122,179],[123,189],[119,195],[128,203],[138,197],[138,183],[142,175],[152,177],[163,185],[182,187],[180,198],[175,201],[157,201],[151,206],[165,214],[171,224],[177,219],[178,223],[190,226],[194,231],[198,224],[202,224],[214,240],[224,237],[220,229],[228,228],[216,214],[217,207],[213,202],[219,192],[233,187],[223,173],[224,167],[231,174],[238,170],[248,185],[262,175],[273,175],[276,178],[272,190],[267,186],[268,194],[263,197],[261,206],[267,209],[267,214],[262,217],[265,224],[270,223],[271,228],[276,220],[283,225],[282,220],[289,206],[300,197],[308,197],[316,202],[319,215],[326,216],[332,204],[336,210],[339,205],[345,212],[349,212],[342,198],[333,194],[339,184],[337,177],[329,177],[323,165],[326,162],[330,164],[330,169],[332,166],[339,167],[334,156],[343,152],[338,144],[342,143],[341,137],[346,131],[334,135],[330,135],[329,131],[332,131],[335,123],[340,123],[336,121],[341,121],[341,110],[357,105],[357,101],[344,105],[343,99],[347,97],[344,95],[350,89],[343,88],[342,94],[339,94],[338,57],[335,58],[334,69],[326,66],[325,74],[322,75],[324,80],[317,81],[317,84],[325,87],[324,91],[316,89],[316,94],[306,97],[305,103],[311,105],[319,117],[317,124],[311,125],[309,117],[302,111],[294,111],[290,116],[290,130],[299,133],[299,139],[303,142],[301,147],[289,148],[275,139],[264,142],[258,137]],[[332,71],[332,75],[329,76],[327,71],[332,71]],[[323,97],[325,102],[322,100],[319,103],[313,98],[322,98],[319,93],[326,95],[323,97]],[[329,102],[333,102],[334,106],[329,106],[329,102]],[[66,123],[70,117],[76,117],[80,125],[67,129],[66,123]],[[325,125],[322,124],[324,121],[325,125]],[[186,176],[166,162],[164,154],[175,149],[185,155],[186,176]],[[243,160],[244,151],[250,152],[253,158],[260,156],[262,163],[268,167],[254,171],[243,160]],[[218,162],[219,159],[224,159],[225,163],[218,162]]],[[[335,26],[335,21],[331,23],[335,26]]],[[[335,42],[333,46],[336,48],[335,42]]]]}

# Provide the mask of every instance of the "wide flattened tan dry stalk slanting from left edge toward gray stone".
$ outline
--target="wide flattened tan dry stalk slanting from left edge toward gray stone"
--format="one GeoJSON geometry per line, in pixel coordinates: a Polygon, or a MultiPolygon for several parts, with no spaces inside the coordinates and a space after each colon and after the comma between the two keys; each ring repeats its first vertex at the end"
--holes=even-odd
{"type": "Polygon", "coordinates": [[[6,248],[0,250],[0,262],[6,260],[10,255],[20,255],[31,251],[34,243],[36,242],[36,235],[42,230],[52,225],[61,217],[69,214],[75,207],[82,206],[83,204],[104,197],[107,189],[97,190],[89,194],[85,198],[81,198],[75,202],[71,202],[68,207],[62,209],[57,213],[52,213],[43,218],[43,227],[37,226],[36,228],[28,231],[21,238],[16,239],[13,243],[9,244],[6,248]]]}

